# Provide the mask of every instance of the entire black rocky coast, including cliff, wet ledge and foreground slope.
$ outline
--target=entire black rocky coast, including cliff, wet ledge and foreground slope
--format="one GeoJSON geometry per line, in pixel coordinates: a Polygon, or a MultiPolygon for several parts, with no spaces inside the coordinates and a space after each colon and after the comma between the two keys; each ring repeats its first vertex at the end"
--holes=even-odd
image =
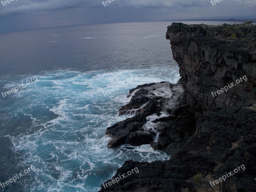
{"type": "Polygon", "coordinates": [[[150,144],[172,157],[126,161],[113,179],[135,167],[140,172],[100,191],[256,191],[256,26],[172,23],[166,38],[182,79],[130,90],[131,101],[119,115],[135,116],[106,134],[112,137],[109,148],[150,144]],[[242,76],[248,80],[212,96],[242,76]],[[209,184],[242,164],[246,169],[216,190],[209,184]]]}

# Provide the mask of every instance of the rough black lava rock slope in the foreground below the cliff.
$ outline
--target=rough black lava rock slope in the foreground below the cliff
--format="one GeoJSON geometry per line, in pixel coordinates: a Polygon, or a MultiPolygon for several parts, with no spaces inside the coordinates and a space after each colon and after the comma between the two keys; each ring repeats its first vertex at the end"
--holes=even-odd
{"type": "MultiPolygon", "coordinates": [[[[222,192],[253,192],[256,187],[255,122],[256,112],[252,109],[209,109],[196,121],[196,127],[191,128],[187,139],[180,136],[180,140],[165,140],[163,146],[167,146],[165,151],[172,155],[170,160],[150,164],[125,162],[116,176],[126,174],[134,167],[140,172],[107,189],[102,187],[100,191],[213,191],[210,181],[244,164],[244,171],[222,183],[222,192]],[[199,183],[190,176],[196,175],[196,170],[204,174],[199,183]]],[[[152,147],[159,148],[157,145],[157,142],[151,142],[152,147]]]]}

